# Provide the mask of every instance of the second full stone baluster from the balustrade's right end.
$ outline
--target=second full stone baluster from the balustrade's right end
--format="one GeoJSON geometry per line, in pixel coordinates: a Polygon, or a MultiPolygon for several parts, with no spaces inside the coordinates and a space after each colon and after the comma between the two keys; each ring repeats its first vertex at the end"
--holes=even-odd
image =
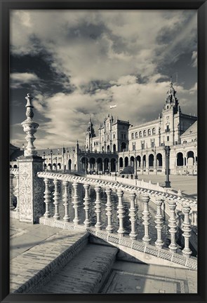
{"type": "Polygon", "coordinates": [[[178,249],[178,245],[176,244],[175,241],[175,234],[178,231],[177,219],[175,218],[176,203],[175,201],[168,201],[168,205],[171,210],[171,216],[168,224],[168,227],[170,227],[169,232],[171,234],[171,244],[168,246],[168,248],[170,248],[170,250],[176,253],[178,249]]]}

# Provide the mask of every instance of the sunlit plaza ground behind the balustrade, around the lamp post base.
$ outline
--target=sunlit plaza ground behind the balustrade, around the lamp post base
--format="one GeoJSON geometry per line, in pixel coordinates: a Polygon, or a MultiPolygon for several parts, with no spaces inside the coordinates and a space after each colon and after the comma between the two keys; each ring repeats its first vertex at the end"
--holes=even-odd
{"type": "MultiPolygon", "coordinates": [[[[166,176],[165,175],[138,175],[138,180],[149,180],[156,184],[159,182],[161,186],[164,186],[166,176]]],[[[182,191],[182,195],[187,198],[197,197],[197,176],[192,175],[170,175],[171,189],[182,191]]]]}

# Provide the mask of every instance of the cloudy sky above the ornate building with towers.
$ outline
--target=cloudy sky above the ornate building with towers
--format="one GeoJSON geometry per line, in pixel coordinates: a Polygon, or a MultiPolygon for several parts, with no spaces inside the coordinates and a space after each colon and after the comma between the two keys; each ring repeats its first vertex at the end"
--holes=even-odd
{"type": "Polygon", "coordinates": [[[182,112],[197,107],[196,11],[11,11],[11,142],[26,143],[25,96],[34,97],[37,148],[84,142],[109,113],[156,119],[170,76],[182,112]],[[176,83],[178,73],[178,83],[176,83]]]}

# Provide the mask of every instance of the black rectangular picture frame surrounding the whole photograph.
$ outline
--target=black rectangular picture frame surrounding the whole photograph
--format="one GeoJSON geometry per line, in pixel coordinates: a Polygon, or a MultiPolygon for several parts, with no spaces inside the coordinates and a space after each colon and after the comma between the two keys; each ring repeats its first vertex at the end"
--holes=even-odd
{"type": "Polygon", "coordinates": [[[207,2],[195,0],[10,1],[1,4],[0,126],[0,301],[1,302],[206,302],[207,2]],[[196,9],[198,10],[198,293],[184,295],[15,295],[9,294],[9,11],[11,9],[196,9]]]}

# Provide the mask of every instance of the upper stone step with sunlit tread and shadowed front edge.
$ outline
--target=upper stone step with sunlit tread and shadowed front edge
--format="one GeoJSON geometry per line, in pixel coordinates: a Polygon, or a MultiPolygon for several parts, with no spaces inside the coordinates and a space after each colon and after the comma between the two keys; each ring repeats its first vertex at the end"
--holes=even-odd
{"type": "Polygon", "coordinates": [[[10,292],[29,292],[42,285],[74,258],[88,243],[85,231],[60,230],[10,263],[10,292]]]}

